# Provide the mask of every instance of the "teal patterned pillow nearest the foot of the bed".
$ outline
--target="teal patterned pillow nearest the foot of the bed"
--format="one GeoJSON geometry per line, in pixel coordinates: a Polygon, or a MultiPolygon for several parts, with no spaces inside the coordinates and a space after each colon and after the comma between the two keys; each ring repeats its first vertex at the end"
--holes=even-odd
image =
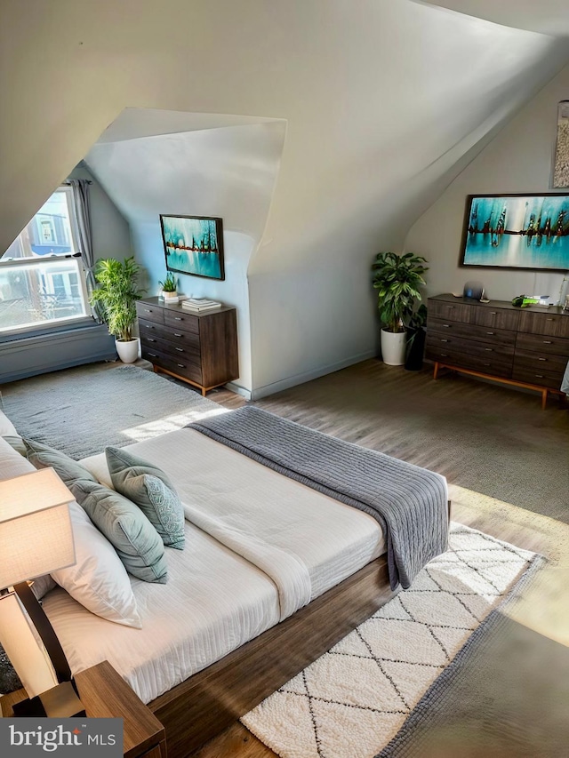
{"type": "Polygon", "coordinates": [[[116,491],[140,507],[164,545],[183,550],[184,509],[164,471],[120,448],[108,447],[105,455],[116,491]]]}

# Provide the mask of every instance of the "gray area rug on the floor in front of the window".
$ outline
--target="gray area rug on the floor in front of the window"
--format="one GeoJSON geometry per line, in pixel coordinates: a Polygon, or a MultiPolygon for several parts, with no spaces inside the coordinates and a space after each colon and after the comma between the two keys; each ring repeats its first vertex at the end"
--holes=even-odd
{"type": "Polygon", "coordinates": [[[81,459],[225,412],[217,403],[140,369],[81,366],[2,388],[4,413],[20,435],[81,459]]]}

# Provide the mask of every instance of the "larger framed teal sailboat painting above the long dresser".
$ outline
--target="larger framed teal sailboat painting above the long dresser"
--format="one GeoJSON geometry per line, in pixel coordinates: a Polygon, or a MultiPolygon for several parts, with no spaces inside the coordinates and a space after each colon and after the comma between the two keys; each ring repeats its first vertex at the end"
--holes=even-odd
{"type": "Polygon", "coordinates": [[[461,266],[569,269],[569,195],[469,195],[461,266]]]}

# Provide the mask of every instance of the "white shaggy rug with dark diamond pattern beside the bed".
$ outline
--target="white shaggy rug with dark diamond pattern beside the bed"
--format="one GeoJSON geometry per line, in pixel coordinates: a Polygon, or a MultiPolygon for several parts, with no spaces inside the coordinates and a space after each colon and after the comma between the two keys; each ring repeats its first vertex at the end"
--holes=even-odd
{"type": "Polygon", "coordinates": [[[451,524],[449,550],[241,721],[282,758],[373,758],[535,554],[451,524]]]}

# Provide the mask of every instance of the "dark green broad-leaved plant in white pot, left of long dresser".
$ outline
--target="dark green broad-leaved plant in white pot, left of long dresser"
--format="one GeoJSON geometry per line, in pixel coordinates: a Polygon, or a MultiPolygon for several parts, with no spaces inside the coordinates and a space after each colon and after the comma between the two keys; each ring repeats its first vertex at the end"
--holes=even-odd
{"type": "Polygon", "coordinates": [[[380,310],[381,356],[390,366],[405,363],[405,323],[413,315],[417,300],[421,300],[419,288],[425,283],[423,274],[428,268],[421,255],[405,252],[379,252],[373,262],[373,287],[377,292],[380,310]]]}

